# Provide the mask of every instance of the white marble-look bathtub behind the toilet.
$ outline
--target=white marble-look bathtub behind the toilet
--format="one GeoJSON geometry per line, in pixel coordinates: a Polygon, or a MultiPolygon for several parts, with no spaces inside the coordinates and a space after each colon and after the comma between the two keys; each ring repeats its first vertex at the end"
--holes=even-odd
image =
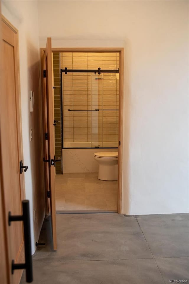
{"type": "MultiPolygon", "coordinates": [[[[97,143],[92,144],[93,147],[98,145],[97,143]]],[[[118,148],[110,148],[118,147],[118,142],[103,142],[103,146],[107,148],[91,148],[91,142],[64,142],[63,173],[98,172],[98,162],[94,159],[94,153],[118,152],[118,148]]]]}

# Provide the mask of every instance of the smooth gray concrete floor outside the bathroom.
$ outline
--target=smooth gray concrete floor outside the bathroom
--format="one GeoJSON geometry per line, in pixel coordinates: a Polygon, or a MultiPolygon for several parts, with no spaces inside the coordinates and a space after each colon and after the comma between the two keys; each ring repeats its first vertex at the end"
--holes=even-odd
{"type": "MultiPolygon", "coordinates": [[[[35,284],[189,281],[189,214],[57,214],[57,251],[46,218],[33,256],[35,284]]],[[[25,282],[25,272],[21,283],[25,282]]],[[[187,283],[187,282],[186,282],[187,283]]]]}

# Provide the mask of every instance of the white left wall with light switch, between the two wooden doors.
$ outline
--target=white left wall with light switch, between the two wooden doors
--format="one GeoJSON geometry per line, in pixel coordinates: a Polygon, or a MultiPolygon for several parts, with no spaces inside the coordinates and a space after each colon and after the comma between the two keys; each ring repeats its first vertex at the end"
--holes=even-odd
{"type": "Polygon", "coordinates": [[[40,227],[44,219],[41,185],[36,173],[37,171],[40,172],[40,161],[36,157],[36,149],[40,148],[40,136],[38,136],[40,129],[38,119],[40,93],[37,9],[37,1],[1,1],[1,13],[19,30],[23,160],[24,164],[28,165],[28,170],[24,175],[26,199],[30,200],[32,253],[35,252],[35,241],[38,241],[40,227]],[[35,96],[33,113],[29,112],[30,90],[34,91],[35,96]],[[30,128],[33,128],[32,142],[30,142],[29,136],[30,128]],[[33,209],[35,208],[36,222],[34,224],[33,209]]]}

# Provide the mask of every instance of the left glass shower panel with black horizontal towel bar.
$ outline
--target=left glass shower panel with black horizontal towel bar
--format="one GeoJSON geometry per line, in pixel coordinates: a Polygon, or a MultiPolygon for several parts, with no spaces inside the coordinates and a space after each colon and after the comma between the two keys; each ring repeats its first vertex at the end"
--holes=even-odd
{"type": "Polygon", "coordinates": [[[87,73],[62,73],[63,148],[90,148],[87,73]]]}

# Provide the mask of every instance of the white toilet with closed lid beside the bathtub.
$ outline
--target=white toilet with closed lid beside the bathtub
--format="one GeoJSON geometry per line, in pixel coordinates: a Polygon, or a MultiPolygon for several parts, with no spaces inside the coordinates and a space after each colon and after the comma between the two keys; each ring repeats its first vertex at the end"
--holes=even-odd
{"type": "Polygon", "coordinates": [[[118,180],[118,152],[94,153],[98,162],[99,180],[118,180]]]}

